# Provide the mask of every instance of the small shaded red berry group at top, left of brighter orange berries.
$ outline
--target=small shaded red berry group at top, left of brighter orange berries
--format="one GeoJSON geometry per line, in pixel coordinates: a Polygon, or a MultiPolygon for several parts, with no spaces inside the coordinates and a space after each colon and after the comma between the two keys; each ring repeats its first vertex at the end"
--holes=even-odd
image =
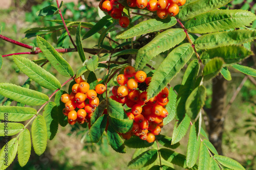
{"type": "Polygon", "coordinates": [[[122,15],[124,6],[118,3],[118,0],[101,0],[99,8],[101,11],[108,12],[113,19],[119,19],[119,25],[121,27],[126,28],[129,26],[130,20],[128,17],[122,15]]]}

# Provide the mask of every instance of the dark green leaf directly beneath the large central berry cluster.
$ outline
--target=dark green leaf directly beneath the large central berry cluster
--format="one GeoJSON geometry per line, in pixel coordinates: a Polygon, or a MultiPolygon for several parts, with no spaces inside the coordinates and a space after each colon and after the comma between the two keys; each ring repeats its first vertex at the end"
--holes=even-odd
{"type": "Polygon", "coordinates": [[[151,147],[154,144],[154,142],[148,143],[145,140],[141,140],[139,136],[134,135],[130,139],[125,140],[124,144],[130,148],[147,148],[151,147]]]}

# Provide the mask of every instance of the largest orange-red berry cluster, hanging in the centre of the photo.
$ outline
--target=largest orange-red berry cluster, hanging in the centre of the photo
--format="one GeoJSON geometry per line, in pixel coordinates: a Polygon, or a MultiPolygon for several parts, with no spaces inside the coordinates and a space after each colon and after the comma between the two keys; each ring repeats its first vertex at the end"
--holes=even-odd
{"type": "Polygon", "coordinates": [[[147,142],[154,142],[163,127],[163,118],[168,115],[165,106],[168,103],[169,90],[165,87],[157,96],[147,99],[146,88],[151,82],[144,71],[135,71],[134,67],[124,68],[124,74],[117,76],[120,86],[114,86],[111,99],[131,108],[126,115],[133,119],[133,128],[129,133],[121,134],[124,139],[132,135],[147,142]],[[133,79],[134,77],[134,79],[133,79]]]}

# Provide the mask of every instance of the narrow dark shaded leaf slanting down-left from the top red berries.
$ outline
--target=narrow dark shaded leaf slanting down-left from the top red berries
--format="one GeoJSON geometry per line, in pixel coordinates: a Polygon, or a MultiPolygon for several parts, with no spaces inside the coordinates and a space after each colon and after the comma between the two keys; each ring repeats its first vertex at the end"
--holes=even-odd
{"type": "Polygon", "coordinates": [[[112,17],[110,15],[106,15],[103,18],[101,18],[93,27],[91,30],[89,30],[82,39],[86,39],[100,31],[105,25],[107,25],[112,20],[112,17]]]}

